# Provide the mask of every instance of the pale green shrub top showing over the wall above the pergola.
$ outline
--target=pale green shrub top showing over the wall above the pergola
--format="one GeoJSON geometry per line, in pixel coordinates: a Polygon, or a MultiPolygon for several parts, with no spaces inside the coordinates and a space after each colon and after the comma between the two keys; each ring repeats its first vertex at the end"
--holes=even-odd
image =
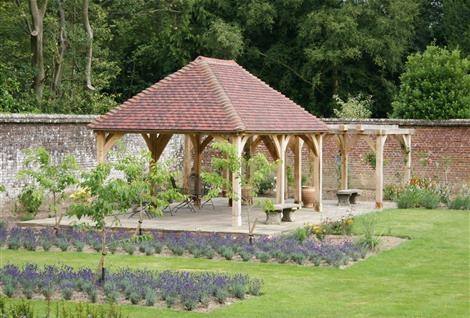
{"type": "Polygon", "coordinates": [[[338,118],[360,119],[370,118],[372,115],[372,96],[359,94],[355,97],[348,96],[344,101],[338,95],[334,95],[333,99],[339,106],[339,109],[333,110],[338,118]]]}

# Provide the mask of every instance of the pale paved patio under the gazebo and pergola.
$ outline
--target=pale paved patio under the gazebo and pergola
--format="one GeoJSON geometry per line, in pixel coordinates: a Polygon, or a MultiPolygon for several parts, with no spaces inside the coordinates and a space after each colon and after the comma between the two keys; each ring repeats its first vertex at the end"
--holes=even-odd
{"type": "MultiPolygon", "coordinates": [[[[276,235],[298,228],[305,223],[318,224],[325,218],[336,220],[347,214],[360,215],[374,211],[374,202],[359,202],[351,207],[338,207],[336,201],[323,201],[323,212],[314,212],[313,209],[303,208],[295,212],[294,222],[282,222],[280,225],[264,224],[265,213],[260,208],[253,208],[251,219],[257,219],[256,234],[276,235]]],[[[242,209],[242,226],[234,228],[231,226],[231,208],[227,206],[227,199],[218,198],[214,200],[215,209],[211,206],[197,210],[196,213],[189,209],[181,209],[175,215],[165,214],[156,219],[145,219],[143,229],[158,229],[162,231],[200,231],[221,233],[248,233],[247,207],[242,209]]],[[[385,208],[395,207],[394,203],[385,202],[385,208]]],[[[86,222],[86,221],[85,221],[86,222]]],[[[115,218],[109,218],[108,224],[116,228],[136,228],[137,216],[129,218],[120,216],[119,222],[115,218]]],[[[64,218],[62,225],[73,225],[78,223],[75,218],[64,218]]],[[[54,219],[38,219],[20,222],[22,225],[30,226],[53,226],[54,219]]]]}

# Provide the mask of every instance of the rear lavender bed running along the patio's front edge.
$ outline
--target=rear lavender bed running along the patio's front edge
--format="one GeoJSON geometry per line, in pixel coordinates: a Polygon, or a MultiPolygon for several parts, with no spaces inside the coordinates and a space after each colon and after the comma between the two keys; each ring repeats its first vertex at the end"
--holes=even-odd
{"type": "MultiPolygon", "coordinates": [[[[5,230],[4,230],[5,231],[5,230]]],[[[55,247],[62,251],[87,249],[100,250],[100,238],[94,231],[64,229],[55,235],[51,229],[13,227],[3,234],[3,243],[10,249],[25,248],[49,250],[55,247]]],[[[222,234],[197,234],[185,232],[165,234],[149,232],[143,241],[136,241],[125,231],[110,233],[108,250],[111,253],[186,255],[227,260],[297,263],[312,265],[342,266],[364,258],[368,250],[352,239],[318,240],[307,237],[299,240],[295,236],[259,237],[253,245],[243,237],[222,234]]]]}

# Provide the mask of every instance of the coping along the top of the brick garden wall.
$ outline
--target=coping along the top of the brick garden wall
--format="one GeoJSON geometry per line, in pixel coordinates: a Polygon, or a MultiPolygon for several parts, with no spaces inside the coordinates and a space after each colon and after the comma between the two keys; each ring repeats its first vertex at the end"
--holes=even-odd
{"type": "MultiPolygon", "coordinates": [[[[65,114],[0,114],[0,124],[89,124],[97,115],[65,114]]],[[[423,120],[423,119],[340,119],[321,118],[327,124],[364,124],[399,126],[460,126],[470,127],[470,119],[423,120]]]]}

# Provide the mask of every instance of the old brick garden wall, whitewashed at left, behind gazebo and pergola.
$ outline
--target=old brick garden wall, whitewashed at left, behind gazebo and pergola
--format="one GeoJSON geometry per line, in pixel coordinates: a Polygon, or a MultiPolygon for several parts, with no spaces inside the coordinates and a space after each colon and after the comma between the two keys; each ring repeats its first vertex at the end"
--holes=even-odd
{"type": "MultiPolygon", "coordinates": [[[[23,149],[44,146],[58,158],[73,154],[84,168],[96,164],[93,133],[86,125],[94,116],[77,115],[0,115],[0,184],[7,193],[0,195],[0,205],[11,202],[18,194],[21,181],[16,174],[23,168],[23,149]]],[[[412,137],[413,175],[437,176],[455,185],[457,189],[470,183],[470,120],[421,121],[421,120],[366,120],[340,121],[325,119],[327,123],[346,124],[396,124],[415,129],[412,137]],[[424,164],[425,163],[425,164],[424,164]]],[[[323,146],[323,178],[327,197],[338,184],[339,163],[336,137],[328,135],[323,146]]],[[[365,138],[365,137],[364,137],[365,138]]],[[[143,139],[130,135],[124,139],[130,152],[145,149],[143,139]]],[[[164,158],[181,156],[182,138],[172,139],[164,158]]],[[[365,140],[361,140],[350,154],[350,187],[366,190],[371,196],[374,189],[374,169],[368,162],[370,152],[365,140]]],[[[305,160],[307,156],[304,156],[305,160]]],[[[385,146],[385,184],[399,183],[403,176],[404,160],[398,143],[388,138],[385,146]]]]}

